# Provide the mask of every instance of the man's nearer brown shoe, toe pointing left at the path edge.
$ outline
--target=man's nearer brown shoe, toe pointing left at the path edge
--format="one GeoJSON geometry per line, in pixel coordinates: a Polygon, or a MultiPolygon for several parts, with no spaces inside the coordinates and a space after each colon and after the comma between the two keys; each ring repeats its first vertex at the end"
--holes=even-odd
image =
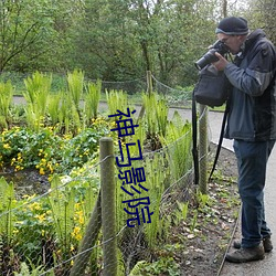
{"type": "Polygon", "coordinates": [[[252,261],[264,259],[265,251],[263,245],[258,245],[256,247],[245,248],[242,247],[232,253],[227,253],[225,259],[231,263],[247,263],[252,261]]]}

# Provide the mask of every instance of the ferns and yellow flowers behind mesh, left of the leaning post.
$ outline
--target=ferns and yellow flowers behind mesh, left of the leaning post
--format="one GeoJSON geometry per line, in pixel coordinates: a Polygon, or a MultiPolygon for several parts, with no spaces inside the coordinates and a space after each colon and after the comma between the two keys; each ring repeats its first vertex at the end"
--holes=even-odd
{"type": "MultiPolygon", "coordinates": [[[[41,264],[47,264],[49,259],[66,261],[76,253],[98,193],[99,179],[93,163],[72,171],[66,178],[54,176],[51,190],[42,198],[33,194],[15,201],[12,183],[8,185],[3,179],[0,182],[0,238],[4,241],[4,248],[10,248],[10,253],[13,251],[10,263],[20,256],[25,263],[21,273],[28,268],[30,275],[36,275],[31,273],[40,268],[42,272],[41,264]],[[8,201],[12,204],[8,205],[8,201]],[[49,252],[47,246],[51,246],[51,253],[43,255],[43,251],[49,252]]],[[[3,257],[2,240],[0,259],[3,257]]],[[[7,262],[8,256],[4,264],[7,262]]]]}

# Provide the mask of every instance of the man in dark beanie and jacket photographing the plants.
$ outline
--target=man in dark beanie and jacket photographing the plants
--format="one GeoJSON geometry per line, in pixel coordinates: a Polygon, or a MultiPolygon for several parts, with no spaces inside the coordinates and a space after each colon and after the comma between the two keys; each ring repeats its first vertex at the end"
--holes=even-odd
{"type": "Polygon", "coordinates": [[[262,30],[248,33],[243,18],[223,19],[215,33],[234,62],[215,53],[213,65],[224,71],[232,84],[225,138],[234,139],[242,200],[242,241],[226,259],[244,263],[264,258],[273,250],[265,221],[264,187],[266,164],[276,139],[276,52],[262,30]]]}

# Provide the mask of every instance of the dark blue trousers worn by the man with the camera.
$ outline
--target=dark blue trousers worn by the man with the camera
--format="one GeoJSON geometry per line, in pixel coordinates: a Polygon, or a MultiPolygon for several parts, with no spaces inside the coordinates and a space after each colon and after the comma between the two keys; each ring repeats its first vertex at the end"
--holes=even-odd
{"type": "Polygon", "coordinates": [[[266,164],[275,140],[234,140],[237,158],[238,193],[242,200],[242,246],[254,247],[270,236],[265,221],[264,187],[266,164]]]}

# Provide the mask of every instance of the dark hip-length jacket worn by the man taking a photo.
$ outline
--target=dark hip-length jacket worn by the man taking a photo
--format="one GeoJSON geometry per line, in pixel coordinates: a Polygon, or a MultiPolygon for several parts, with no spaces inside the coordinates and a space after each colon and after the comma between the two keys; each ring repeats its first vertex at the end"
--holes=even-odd
{"type": "Polygon", "coordinates": [[[225,137],[276,139],[276,50],[262,30],[251,33],[242,54],[224,70],[233,85],[225,137]]]}

